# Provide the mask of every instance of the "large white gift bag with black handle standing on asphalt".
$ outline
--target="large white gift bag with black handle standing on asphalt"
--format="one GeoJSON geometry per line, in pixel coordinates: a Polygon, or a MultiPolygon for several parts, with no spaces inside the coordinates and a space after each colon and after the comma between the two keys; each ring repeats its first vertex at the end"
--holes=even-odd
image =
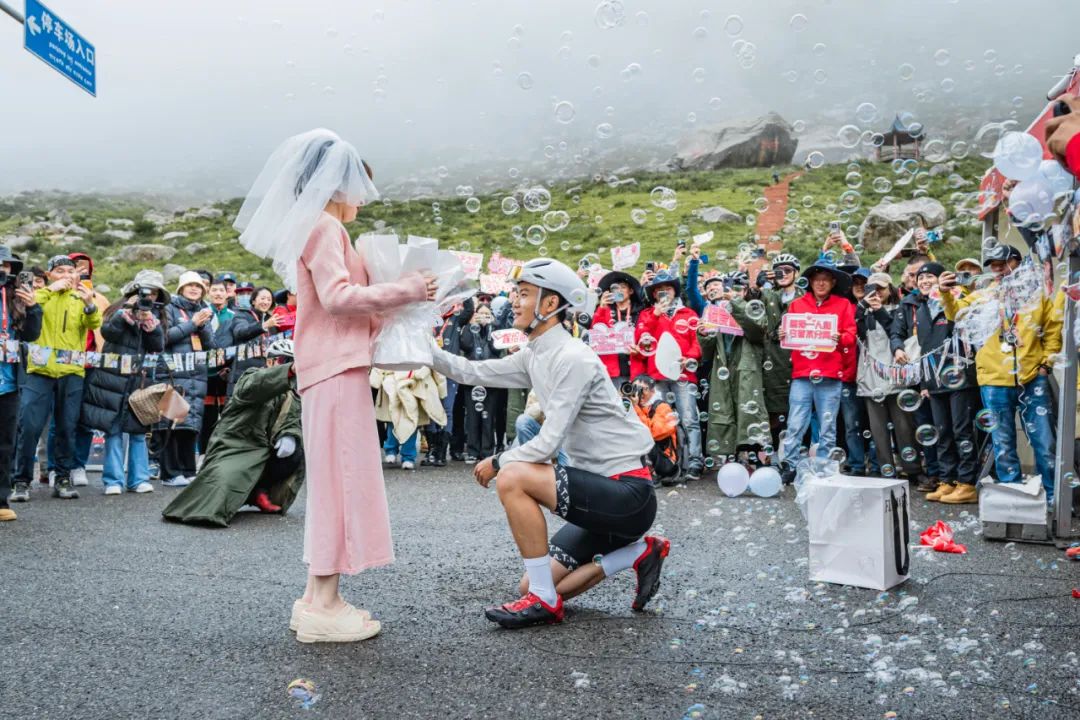
{"type": "Polygon", "coordinates": [[[887,590],[907,580],[912,553],[906,480],[811,477],[810,580],[887,590]]]}

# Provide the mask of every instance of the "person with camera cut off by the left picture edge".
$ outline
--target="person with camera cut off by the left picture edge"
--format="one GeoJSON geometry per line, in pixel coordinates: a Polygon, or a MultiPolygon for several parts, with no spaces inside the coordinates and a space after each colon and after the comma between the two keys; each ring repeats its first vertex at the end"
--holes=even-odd
{"type": "Polygon", "coordinates": [[[18,343],[33,342],[41,335],[41,305],[32,282],[23,261],[0,245],[0,521],[16,518],[8,495],[18,426],[18,343]]]}

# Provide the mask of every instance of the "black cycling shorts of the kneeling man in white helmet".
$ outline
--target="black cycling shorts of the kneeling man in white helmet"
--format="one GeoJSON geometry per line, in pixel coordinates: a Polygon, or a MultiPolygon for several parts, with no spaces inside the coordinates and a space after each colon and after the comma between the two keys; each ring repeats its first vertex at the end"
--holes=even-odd
{"type": "Polygon", "coordinates": [[[554,465],[555,514],[566,520],[551,539],[548,552],[573,570],[597,555],[636,542],[657,517],[652,481],[619,479],[589,471],[554,465]]]}

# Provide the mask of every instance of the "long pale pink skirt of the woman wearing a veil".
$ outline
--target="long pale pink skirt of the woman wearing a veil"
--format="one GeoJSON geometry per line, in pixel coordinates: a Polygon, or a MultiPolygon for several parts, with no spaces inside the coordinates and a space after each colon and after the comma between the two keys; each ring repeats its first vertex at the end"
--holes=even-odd
{"type": "Polygon", "coordinates": [[[303,391],[303,561],[312,575],[352,575],[394,560],[368,370],[303,391]]]}

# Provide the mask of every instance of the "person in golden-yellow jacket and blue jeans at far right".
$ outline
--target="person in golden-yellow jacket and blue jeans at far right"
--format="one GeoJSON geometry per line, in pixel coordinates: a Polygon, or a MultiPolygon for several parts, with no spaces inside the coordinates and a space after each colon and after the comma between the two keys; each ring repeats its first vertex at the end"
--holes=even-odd
{"type": "MultiPolygon", "coordinates": [[[[984,269],[997,279],[986,288],[956,298],[944,291],[956,286],[956,274],[942,273],[942,308],[949,321],[997,290],[1001,279],[1021,264],[1021,255],[1009,245],[986,250],[984,269]]],[[[990,439],[998,483],[1020,483],[1020,458],[1016,454],[1016,411],[1035,452],[1036,466],[1047,490],[1047,502],[1054,498],[1054,429],[1050,381],[1051,357],[1062,350],[1064,298],[1040,298],[1030,308],[1012,312],[1002,302],[998,331],[975,354],[975,370],[983,406],[994,413],[990,439]]]]}

